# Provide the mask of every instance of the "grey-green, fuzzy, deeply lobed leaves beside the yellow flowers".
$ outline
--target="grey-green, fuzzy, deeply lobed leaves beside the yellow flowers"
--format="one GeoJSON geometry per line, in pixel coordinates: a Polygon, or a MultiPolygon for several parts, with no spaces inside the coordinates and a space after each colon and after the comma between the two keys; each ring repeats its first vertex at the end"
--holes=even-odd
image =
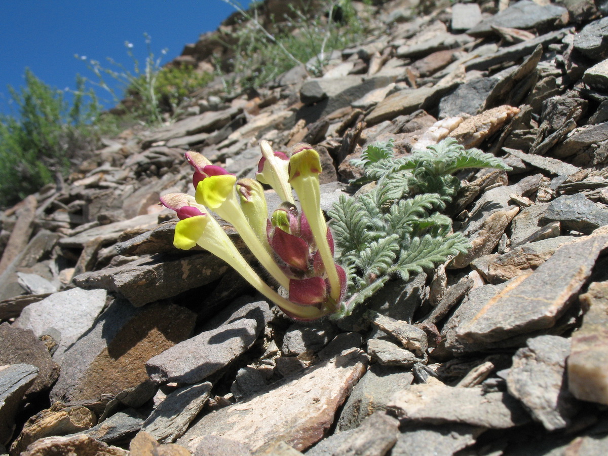
{"type": "Polygon", "coordinates": [[[328,212],[337,261],[348,277],[348,299],[334,314],[338,317],[349,315],[394,275],[409,280],[410,274],[468,250],[468,241],[452,233],[452,220],[441,214],[460,187],[454,173],[511,169],[491,154],[465,150],[452,138],[397,159],[392,141],[376,143],[351,164],[364,171],[353,184],[368,182],[372,188],[353,198],[340,196],[328,212]]]}

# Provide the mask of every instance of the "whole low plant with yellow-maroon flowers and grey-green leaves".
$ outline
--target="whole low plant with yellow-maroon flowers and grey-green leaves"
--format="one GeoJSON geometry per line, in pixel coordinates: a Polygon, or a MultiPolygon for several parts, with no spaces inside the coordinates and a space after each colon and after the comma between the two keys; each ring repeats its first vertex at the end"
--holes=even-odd
{"type": "Polygon", "coordinates": [[[257,181],[237,179],[202,154],[187,152],[195,196],[170,193],[161,202],[180,219],[174,246],[208,250],[299,320],[347,316],[393,274],[407,280],[412,272],[466,252],[468,242],[460,233],[450,233],[452,221],[440,213],[460,184],[452,173],[471,167],[508,169],[499,159],[465,150],[453,139],[407,159],[393,158],[392,142],[367,148],[357,163],[365,179],[375,179],[373,188],[356,197],[342,196],[334,206],[334,241],[320,209],[317,151],[297,144],[287,156],[266,141],[260,147],[257,181]],[[261,184],[274,188],[283,201],[270,218],[261,184]],[[285,294],[262,280],[210,210],[232,224],[285,294]]]}

